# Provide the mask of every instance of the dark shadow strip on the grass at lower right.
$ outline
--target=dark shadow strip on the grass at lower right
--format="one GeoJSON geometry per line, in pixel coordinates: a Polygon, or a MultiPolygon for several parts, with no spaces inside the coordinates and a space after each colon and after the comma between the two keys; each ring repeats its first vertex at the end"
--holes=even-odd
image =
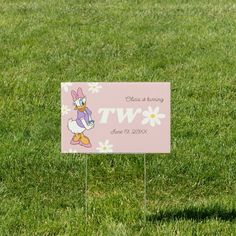
{"type": "Polygon", "coordinates": [[[236,220],[236,209],[224,209],[219,206],[214,207],[189,207],[186,209],[173,209],[159,211],[147,216],[147,221],[172,221],[172,220],[192,220],[203,221],[207,219],[217,219],[223,221],[236,220]]]}

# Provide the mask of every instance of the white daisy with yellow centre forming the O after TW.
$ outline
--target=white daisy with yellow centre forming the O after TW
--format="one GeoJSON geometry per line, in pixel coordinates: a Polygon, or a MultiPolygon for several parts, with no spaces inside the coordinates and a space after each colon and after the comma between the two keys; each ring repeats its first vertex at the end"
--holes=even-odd
{"type": "Polygon", "coordinates": [[[159,111],[160,111],[159,107],[156,107],[155,109],[148,107],[148,110],[143,112],[144,119],[142,121],[142,124],[146,125],[149,123],[152,127],[154,127],[155,125],[160,125],[161,124],[160,119],[163,119],[166,116],[165,114],[159,113],[159,111]]]}

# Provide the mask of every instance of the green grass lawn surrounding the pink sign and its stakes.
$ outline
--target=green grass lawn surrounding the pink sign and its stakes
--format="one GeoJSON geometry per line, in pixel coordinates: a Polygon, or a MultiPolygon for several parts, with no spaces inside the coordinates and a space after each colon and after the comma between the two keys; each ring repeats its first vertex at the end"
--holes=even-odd
{"type": "Polygon", "coordinates": [[[234,0],[0,0],[0,235],[235,235],[234,0]],[[62,81],[170,81],[172,152],[60,154],[62,81]]]}

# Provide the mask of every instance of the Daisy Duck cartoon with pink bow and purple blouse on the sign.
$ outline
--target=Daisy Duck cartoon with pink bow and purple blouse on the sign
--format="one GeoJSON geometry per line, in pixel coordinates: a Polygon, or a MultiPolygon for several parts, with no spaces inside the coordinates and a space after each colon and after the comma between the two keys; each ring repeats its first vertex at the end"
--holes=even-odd
{"type": "Polygon", "coordinates": [[[92,145],[89,138],[84,135],[84,131],[94,127],[94,120],[91,117],[92,112],[86,106],[86,97],[81,88],[78,88],[77,92],[72,90],[71,96],[77,111],[77,118],[76,120],[70,119],[68,122],[68,128],[74,134],[70,143],[90,148],[92,145]]]}

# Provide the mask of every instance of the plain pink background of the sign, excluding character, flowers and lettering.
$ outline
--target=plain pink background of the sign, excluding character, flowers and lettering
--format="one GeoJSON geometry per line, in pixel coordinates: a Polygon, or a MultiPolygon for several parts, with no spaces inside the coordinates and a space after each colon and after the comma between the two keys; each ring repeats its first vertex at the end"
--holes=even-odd
{"type": "Polygon", "coordinates": [[[61,88],[61,105],[70,109],[68,114],[61,116],[61,151],[63,153],[98,153],[96,149],[99,142],[109,140],[113,145],[113,153],[169,153],[170,152],[170,83],[167,82],[134,82],[134,83],[99,83],[102,88],[98,93],[88,91],[89,85],[85,82],[74,82],[68,86],[66,92],[61,88]],[[84,132],[89,137],[92,147],[86,148],[80,145],[71,145],[73,134],[68,130],[67,123],[70,118],[76,119],[77,113],[74,110],[71,90],[81,87],[87,98],[87,107],[92,111],[92,119],[95,120],[95,127],[84,132]],[[164,98],[164,102],[126,102],[127,96],[136,98],[164,98]],[[142,112],[148,110],[148,106],[160,108],[160,113],[165,114],[161,119],[161,125],[152,127],[149,124],[143,125],[144,116],[138,114],[134,121],[128,124],[127,119],[119,124],[117,115],[111,114],[107,124],[100,124],[101,114],[99,108],[141,108],[142,112]],[[113,130],[124,129],[147,129],[148,134],[110,134],[113,130]]]}

